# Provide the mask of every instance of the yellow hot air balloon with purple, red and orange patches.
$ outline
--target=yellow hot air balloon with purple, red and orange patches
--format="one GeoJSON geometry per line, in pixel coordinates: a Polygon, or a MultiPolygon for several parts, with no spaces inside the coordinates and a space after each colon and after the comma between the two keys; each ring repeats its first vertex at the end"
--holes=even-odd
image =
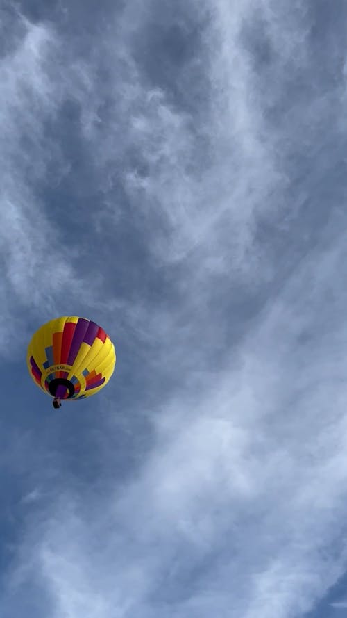
{"type": "Polygon", "coordinates": [[[63,316],[42,325],[28,345],[28,370],[53,397],[82,399],[100,391],[115,369],[115,346],[101,326],[86,318],[63,316]]]}

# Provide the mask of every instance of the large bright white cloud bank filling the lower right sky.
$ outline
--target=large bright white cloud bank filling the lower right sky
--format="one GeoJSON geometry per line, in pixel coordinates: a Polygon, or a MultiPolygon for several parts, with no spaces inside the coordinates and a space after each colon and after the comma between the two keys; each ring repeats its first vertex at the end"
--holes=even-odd
{"type": "Polygon", "coordinates": [[[87,505],[62,495],[31,530],[53,615],[288,618],[343,574],[344,323],[298,344],[325,309],[334,245],[285,286],[236,364],[163,400],[137,478],[87,505]]]}

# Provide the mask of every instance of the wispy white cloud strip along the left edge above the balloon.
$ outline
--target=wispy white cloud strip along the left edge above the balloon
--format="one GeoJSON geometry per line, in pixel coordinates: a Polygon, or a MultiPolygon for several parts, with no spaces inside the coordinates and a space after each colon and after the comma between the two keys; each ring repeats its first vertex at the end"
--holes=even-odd
{"type": "Polygon", "coordinates": [[[37,311],[44,304],[48,311],[52,310],[54,293],[64,288],[73,272],[59,254],[58,234],[33,188],[44,177],[46,161],[52,156],[53,145],[45,136],[44,123],[54,115],[57,104],[56,87],[46,71],[46,59],[55,39],[46,26],[34,26],[25,20],[19,25],[14,49],[0,63],[4,352],[8,338],[17,341],[12,316],[18,316],[23,307],[37,311]]]}

